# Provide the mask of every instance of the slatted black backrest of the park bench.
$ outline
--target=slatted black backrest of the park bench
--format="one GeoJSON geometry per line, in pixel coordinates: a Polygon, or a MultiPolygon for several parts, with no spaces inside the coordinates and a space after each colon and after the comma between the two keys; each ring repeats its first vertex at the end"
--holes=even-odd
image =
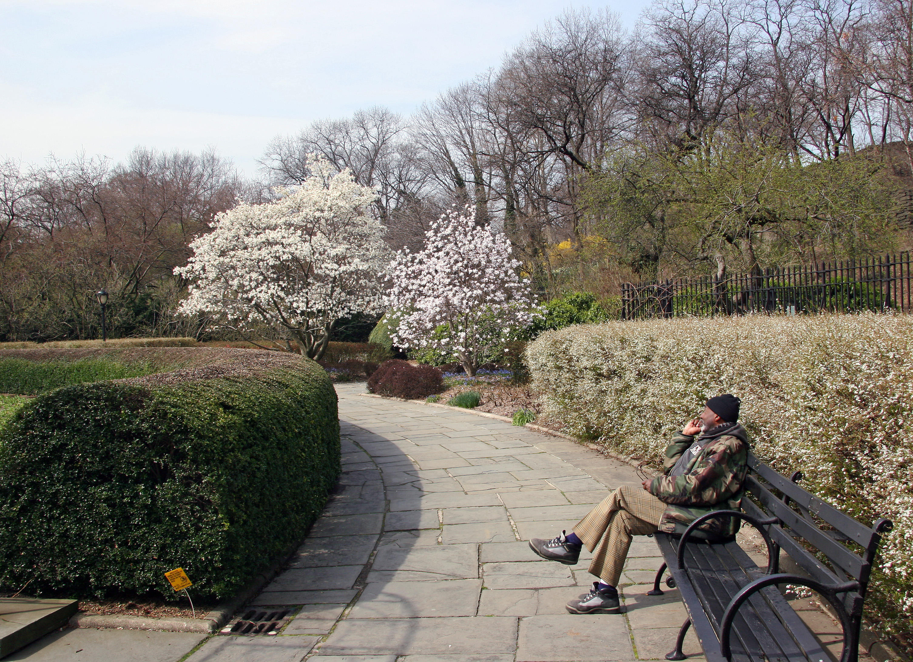
{"type": "Polygon", "coordinates": [[[844,604],[850,615],[861,616],[872,563],[881,534],[893,526],[890,520],[881,518],[869,528],[800,488],[796,481],[802,478],[801,472],[786,478],[751,453],[748,466],[745,488],[753,500],[742,499],[742,510],[758,519],[780,520],[768,527],[771,539],[813,579],[822,583],[857,581],[859,591],[845,594],[844,604]],[[827,563],[807,546],[821,552],[827,563]]]}

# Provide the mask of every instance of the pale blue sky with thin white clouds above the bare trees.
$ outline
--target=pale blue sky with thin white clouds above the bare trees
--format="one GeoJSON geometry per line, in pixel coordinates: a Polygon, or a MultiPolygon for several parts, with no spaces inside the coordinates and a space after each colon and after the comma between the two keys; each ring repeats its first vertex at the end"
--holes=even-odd
{"type": "Polygon", "coordinates": [[[275,136],[406,115],[568,8],[648,0],[0,0],[0,158],[213,148],[248,176],[275,136]]]}

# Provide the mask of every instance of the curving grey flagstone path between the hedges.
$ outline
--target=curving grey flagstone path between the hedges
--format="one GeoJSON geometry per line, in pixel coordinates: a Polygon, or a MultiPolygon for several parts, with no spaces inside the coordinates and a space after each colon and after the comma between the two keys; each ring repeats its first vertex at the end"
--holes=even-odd
{"type": "MultiPolygon", "coordinates": [[[[593,578],[542,561],[530,537],[571,530],[634,470],[553,436],[338,387],[343,478],[259,605],[302,605],[281,636],[215,636],[191,656],[299,662],[635,660],[670,650],[677,592],[649,597],[661,562],[635,542],[623,615],[569,615],[593,578]]],[[[686,652],[699,655],[696,640],[686,652]]]]}

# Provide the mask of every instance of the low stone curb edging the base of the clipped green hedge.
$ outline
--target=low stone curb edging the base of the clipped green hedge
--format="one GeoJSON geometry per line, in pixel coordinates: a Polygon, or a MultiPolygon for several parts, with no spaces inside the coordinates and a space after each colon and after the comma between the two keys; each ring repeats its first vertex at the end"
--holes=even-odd
{"type": "Polygon", "coordinates": [[[259,573],[235,597],[217,604],[215,609],[201,618],[152,618],[130,615],[77,614],[69,619],[70,627],[101,627],[121,630],[163,630],[166,632],[195,632],[210,635],[218,632],[235,614],[238,607],[260,594],[263,587],[286,566],[289,559],[300,547],[301,542],[293,544],[282,554],[278,562],[273,563],[264,573],[259,573]]]}

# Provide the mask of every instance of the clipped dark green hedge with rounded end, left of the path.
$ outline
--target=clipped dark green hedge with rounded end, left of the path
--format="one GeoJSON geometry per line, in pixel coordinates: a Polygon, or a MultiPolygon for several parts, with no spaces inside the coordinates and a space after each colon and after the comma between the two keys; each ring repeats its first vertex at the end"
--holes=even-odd
{"type": "MultiPolygon", "coordinates": [[[[85,359],[59,352],[80,351],[44,363],[85,359]]],[[[164,573],[183,567],[195,595],[235,594],[304,536],[339,478],[332,384],[279,352],[125,352],[92,358],[184,368],[58,388],[0,428],[0,586],[168,597],[164,573]]]]}

